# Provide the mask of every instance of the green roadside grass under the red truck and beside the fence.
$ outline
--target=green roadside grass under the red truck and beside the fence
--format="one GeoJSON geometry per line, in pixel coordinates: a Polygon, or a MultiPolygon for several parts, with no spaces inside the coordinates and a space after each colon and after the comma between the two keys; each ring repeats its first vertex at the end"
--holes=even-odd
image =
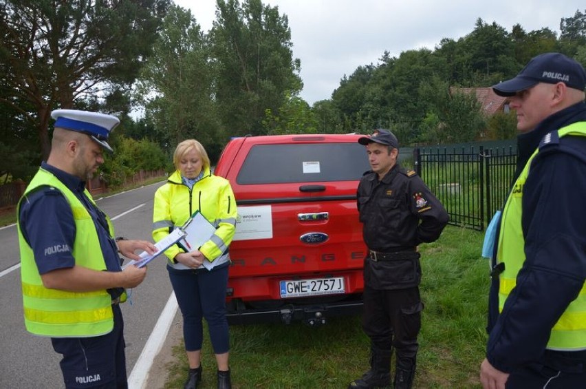
{"type": "MultiPolygon", "coordinates": [[[[423,244],[421,285],[425,304],[414,388],[480,388],[486,344],[488,264],[483,234],[448,226],[423,244]]],[[[230,327],[234,388],[346,388],[368,369],[369,339],[360,317],[329,319],[325,326],[263,324],[230,327]]],[[[165,388],[182,388],[187,361],[182,342],[173,347],[165,388]]],[[[207,330],[202,350],[204,381],[215,388],[215,359],[207,330]]],[[[394,362],[394,360],[393,360],[394,362]]]]}

